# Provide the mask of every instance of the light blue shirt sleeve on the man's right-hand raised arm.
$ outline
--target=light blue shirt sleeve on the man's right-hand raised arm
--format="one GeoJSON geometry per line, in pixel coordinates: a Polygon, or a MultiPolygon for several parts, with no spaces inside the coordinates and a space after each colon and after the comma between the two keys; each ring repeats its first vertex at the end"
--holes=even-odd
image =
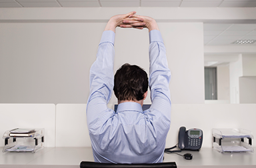
{"type": "Polygon", "coordinates": [[[171,95],[169,91],[169,81],[171,71],[168,68],[165,45],[160,31],[149,32],[149,88],[151,89],[151,108],[159,114],[148,111],[147,115],[152,119],[156,115],[161,115],[161,120],[167,126],[171,118],[171,95]]]}

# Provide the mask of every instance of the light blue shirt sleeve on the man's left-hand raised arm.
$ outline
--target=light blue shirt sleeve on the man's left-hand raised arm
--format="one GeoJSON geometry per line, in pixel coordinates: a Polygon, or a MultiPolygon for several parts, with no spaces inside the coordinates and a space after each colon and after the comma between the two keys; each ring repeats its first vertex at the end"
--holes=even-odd
{"type": "Polygon", "coordinates": [[[113,115],[113,111],[107,108],[107,103],[111,99],[114,85],[114,42],[115,33],[104,31],[99,43],[97,59],[90,69],[90,94],[87,101],[87,125],[89,128],[97,123],[98,119],[108,119],[113,115]]]}

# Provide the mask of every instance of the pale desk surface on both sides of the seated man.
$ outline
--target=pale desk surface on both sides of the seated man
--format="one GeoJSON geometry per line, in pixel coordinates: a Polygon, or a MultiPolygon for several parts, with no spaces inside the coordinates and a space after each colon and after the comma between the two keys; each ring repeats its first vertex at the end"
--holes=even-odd
{"type": "MultiPolygon", "coordinates": [[[[2,150],[2,148],[1,148],[2,150]]],[[[256,167],[255,153],[219,153],[212,148],[201,151],[183,151],[192,153],[192,160],[185,160],[175,153],[165,153],[164,162],[175,161],[177,167],[256,167]]],[[[37,153],[1,153],[0,167],[79,167],[81,161],[94,161],[90,147],[44,148],[37,153]]]]}

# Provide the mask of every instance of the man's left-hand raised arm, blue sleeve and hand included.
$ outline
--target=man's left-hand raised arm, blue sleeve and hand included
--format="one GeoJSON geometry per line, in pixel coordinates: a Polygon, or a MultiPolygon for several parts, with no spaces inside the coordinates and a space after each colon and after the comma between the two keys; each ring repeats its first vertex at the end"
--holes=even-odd
{"type": "Polygon", "coordinates": [[[116,27],[142,27],[145,25],[143,19],[139,17],[130,17],[136,12],[130,12],[124,15],[115,15],[109,19],[105,31],[101,36],[97,51],[97,59],[90,69],[90,95],[87,101],[87,122],[93,125],[94,121],[101,118],[102,122],[108,119],[113,112],[107,109],[107,103],[111,99],[113,91],[113,64],[114,64],[114,42],[116,27]],[[123,23],[127,19],[129,23],[123,23]],[[109,111],[109,115],[102,115],[103,112],[109,111]],[[105,118],[104,118],[104,117],[105,118]]]}

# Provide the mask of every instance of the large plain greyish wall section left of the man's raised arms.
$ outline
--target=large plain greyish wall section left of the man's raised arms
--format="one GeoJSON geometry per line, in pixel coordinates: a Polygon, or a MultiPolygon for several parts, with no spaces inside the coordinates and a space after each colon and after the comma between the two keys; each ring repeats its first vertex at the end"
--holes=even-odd
{"type": "Polygon", "coordinates": [[[104,27],[0,23],[0,102],[86,103],[89,68],[104,27]]]}

